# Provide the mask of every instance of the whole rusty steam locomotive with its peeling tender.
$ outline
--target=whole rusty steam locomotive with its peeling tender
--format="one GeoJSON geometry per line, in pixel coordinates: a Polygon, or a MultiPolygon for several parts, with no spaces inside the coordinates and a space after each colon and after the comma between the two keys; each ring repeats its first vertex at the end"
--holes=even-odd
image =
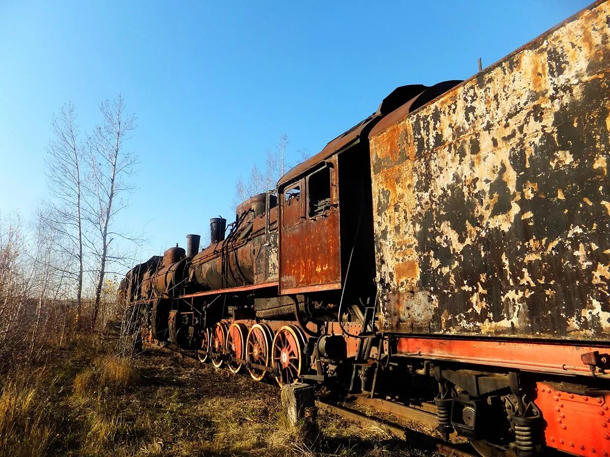
{"type": "Polygon", "coordinates": [[[397,88],[209,246],[134,267],[121,306],[148,341],[433,411],[483,455],[608,456],[609,38],[600,1],[470,79],[397,88]]]}

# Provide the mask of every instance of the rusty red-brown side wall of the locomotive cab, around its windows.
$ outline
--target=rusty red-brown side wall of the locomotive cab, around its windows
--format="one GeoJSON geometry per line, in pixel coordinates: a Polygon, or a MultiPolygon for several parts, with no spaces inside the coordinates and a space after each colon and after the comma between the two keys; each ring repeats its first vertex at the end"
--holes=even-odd
{"type": "Polygon", "coordinates": [[[309,188],[305,178],[299,182],[298,199],[287,197],[286,190],[280,191],[281,294],[338,289],[341,286],[337,156],[328,161],[332,164],[331,182],[328,183],[331,199],[324,214],[309,216],[309,188]]]}

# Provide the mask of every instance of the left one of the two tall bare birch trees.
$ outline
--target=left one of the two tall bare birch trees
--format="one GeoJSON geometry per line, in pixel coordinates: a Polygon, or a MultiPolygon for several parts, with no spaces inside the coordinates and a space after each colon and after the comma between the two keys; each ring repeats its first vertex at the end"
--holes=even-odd
{"type": "Polygon", "coordinates": [[[52,138],[46,148],[46,176],[53,198],[52,211],[45,211],[41,216],[49,218],[48,228],[57,230],[66,241],[59,246],[74,258],[76,269],[64,273],[76,283],[76,313],[81,316],[85,259],[82,208],[88,163],[73,104],[63,105],[59,115],[52,116],[51,131],[52,138]]]}

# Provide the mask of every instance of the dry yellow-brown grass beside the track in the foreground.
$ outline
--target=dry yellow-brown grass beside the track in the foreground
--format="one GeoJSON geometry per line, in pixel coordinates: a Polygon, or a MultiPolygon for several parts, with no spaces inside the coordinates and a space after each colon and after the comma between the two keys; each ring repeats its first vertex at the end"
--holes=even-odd
{"type": "Polygon", "coordinates": [[[0,382],[0,455],[422,455],[324,411],[307,447],[282,426],[277,388],[160,349],[120,360],[83,338],[0,382]]]}

